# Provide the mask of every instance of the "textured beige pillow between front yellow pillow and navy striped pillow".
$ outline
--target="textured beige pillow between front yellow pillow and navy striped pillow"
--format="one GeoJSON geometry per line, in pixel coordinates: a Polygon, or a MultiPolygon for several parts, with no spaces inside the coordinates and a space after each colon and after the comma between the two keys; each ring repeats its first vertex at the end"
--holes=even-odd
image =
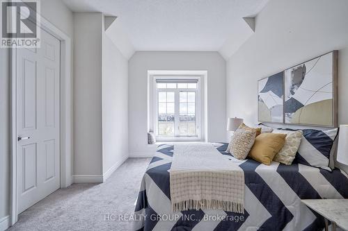
{"type": "Polygon", "coordinates": [[[287,165],[292,164],[301,144],[302,131],[274,130],[272,133],[286,134],[285,144],[273,160],[287,165]]]}

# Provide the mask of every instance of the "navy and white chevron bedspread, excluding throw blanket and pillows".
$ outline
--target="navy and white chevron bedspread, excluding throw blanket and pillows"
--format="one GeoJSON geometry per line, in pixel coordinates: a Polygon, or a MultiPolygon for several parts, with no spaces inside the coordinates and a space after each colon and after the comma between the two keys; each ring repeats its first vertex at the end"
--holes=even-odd
{"type": "Polygon", "coordinates": [[[244,214],[221,210],[171,212],[169,172],[173,145],[162,144],[148,166],[136,200],[133,230],[322,230],[324,219],[301,199],[348,198],[347,174],[293,163],[237,160],[216,143],[226,160],[244,171],[244,214]]]}

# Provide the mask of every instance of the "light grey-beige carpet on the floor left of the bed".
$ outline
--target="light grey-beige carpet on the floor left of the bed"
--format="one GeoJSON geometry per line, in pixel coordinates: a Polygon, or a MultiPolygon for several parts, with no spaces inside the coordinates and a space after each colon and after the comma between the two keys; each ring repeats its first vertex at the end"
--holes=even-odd
{"type": "Polygon", "coordinates": [[[59,189],[19,214],[8,230],[130,230],[118,221],[134,212],[143,173],[150,159],[129,158],[103,184],[74,184],[59,189]],[[105,221],[106,214],[113,214],[105,221]]]}

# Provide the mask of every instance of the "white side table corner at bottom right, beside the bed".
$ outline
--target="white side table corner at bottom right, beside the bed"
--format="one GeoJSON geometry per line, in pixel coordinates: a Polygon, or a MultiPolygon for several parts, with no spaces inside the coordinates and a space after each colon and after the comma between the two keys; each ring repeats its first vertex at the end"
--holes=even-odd
{"type": "Polygon", "coordinates": [[[325,219],[325,231],[328,230],[328,221],[332,222],[332,230],[336,225],[348,230],[348,199],[318,199],[301,200],[302,203],[313,209],[325,219]]]}

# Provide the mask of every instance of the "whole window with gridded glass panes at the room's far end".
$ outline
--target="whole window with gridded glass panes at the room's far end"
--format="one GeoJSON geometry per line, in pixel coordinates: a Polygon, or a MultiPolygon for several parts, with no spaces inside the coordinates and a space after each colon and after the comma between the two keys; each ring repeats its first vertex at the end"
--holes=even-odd
{"type": "Polygon", "coordinates": [[[200,139],[200,80],[155,78],[157,139],[200,139]]]}

